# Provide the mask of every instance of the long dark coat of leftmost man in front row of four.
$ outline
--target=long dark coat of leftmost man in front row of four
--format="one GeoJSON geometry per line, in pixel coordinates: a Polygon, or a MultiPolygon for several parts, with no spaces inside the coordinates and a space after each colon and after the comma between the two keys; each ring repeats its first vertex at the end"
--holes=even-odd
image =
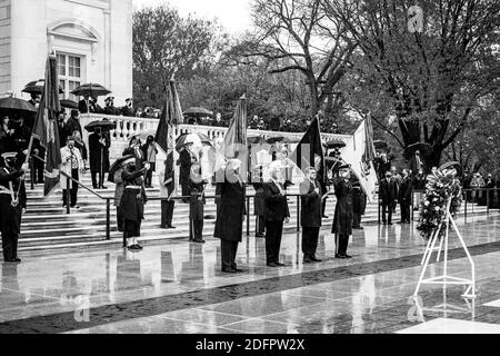
{"type": "Polygon", "coordinates": [[[219,211],[219,236],[227,241],[241,243],[243,229],[243,216],[247,214],[244,207],[244,187],[242,182],[218,184],[221,195],[219,211]]]}

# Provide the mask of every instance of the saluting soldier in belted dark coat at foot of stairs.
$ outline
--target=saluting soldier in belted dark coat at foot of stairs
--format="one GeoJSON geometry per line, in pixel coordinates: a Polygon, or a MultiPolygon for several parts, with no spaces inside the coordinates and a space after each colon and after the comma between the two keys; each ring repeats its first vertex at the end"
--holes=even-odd
{"type": "Polygon", "coordinates": [[[123,162],[120,211],[123,217],[123,236],[129,250],[142,249],[137,238],[141,236],[141,222],[144,218],[147,196],[143,177],[148,169],[148,164],[143,168],[138,167],[136,158],[129,158],[123,162]]]}

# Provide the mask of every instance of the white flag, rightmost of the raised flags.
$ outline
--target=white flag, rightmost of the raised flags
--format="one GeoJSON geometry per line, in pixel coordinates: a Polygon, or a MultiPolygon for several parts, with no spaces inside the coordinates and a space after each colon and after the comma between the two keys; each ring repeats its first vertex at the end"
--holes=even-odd
{"type": "Polygon", "coordinates": [[[353,139],[342,148],[341,157],[346,164],[351,165],[354,176],[359,179],[368,201],[376,201],[377,174],[373,167],[373,137],[371,120],[364,119],[353,139]]]}

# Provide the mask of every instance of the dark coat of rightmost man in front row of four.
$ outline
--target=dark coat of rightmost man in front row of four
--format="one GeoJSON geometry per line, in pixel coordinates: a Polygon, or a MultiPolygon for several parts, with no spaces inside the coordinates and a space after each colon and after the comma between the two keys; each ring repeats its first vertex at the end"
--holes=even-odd
{"type": "Polygon", "coordinates": [[[352,235],[352,185],[344,179],[339,179],[334,182],[334,191],[337,205],[331,231],[350,236],[352,235]]]}

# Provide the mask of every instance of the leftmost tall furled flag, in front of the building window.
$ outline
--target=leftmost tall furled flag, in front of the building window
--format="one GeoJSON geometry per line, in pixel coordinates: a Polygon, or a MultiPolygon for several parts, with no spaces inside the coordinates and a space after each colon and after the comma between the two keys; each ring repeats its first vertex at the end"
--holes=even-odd
{"type": "Polygon", "coordinates": [[[46,63],[46,81],[43,86],[40,106],[34,122],[33,137],[40,140],[40,145],[47,151],[43,195],[48,196],[59,184],[61,160],[61,147],[59,142],[59,129],[57,118],[61,111],[59,102],[58,63],[53,55],[49,55],[46,63]]]}

